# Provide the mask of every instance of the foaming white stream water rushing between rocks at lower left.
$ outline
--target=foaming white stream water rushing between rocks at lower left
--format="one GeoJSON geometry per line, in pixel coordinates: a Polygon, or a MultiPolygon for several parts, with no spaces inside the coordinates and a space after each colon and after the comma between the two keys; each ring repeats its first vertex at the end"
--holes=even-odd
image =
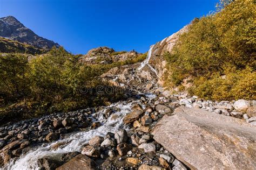
{"type": "MultiPolygon", "coordinates": [[[[149,97],[154,97],[149,94],[149,97]]],[[[118,102],[110,105],[110,107],[119,108],[120,111],[114,113],[119,115],[119,118],[115,120],[111,120],[111,116],[107,119],[103,117],[102,112],[96,112],[95,115],[97,117],[96,121],[100,121],[102,126],[98,129],[90,130],[90,131],[82,131],[72,134],[70,137],[58,140],[55,143],[43,144],[37,148],[33,148],[33,150],[28,153],[21,155],[21,157],[14,161],[10,161],[10,163],[4,169],[17,169],[17,170],[25,170],[25,169],[39,169],[37,165],[37,159],[43,157],[53,157],[58,158],[63,153],[80,151],[82,146],[86,144],[92,137],[94,136],[105,136],[107,132],[116,132],[119,129],[124,128],[123,118],[124,116],[131,111],[132,103],[126,102],[118,102]],[[57,150],[51,150],[51,146],[61,141],[66,142],[66,145],[59,147],[57,150]]],[[[107,108],[107,107],[106,107],[107,108]]],[[[105,109],[106,110],[106,109],[105,109]]]]}

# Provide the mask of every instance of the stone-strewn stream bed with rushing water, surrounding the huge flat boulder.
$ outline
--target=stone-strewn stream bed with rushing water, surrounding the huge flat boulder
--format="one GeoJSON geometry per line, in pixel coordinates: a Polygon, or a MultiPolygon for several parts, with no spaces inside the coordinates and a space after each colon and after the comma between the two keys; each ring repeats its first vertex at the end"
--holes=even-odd
{"type": "Polygon", "coordinates": [[[164,143],[158,138],[158,142],[154,140],[152,129],[163,116],[172,117],[173,110],[185,106],[205,110],[213,117],[224,119],[219,117],[224,115],[241,120],[252,127],[256,122],[255,101],[213,102],[186,93],[171,95],[163,91],[158,94],[141,94],[110,107],[5,125],[0,129],[1,165],[4,169],[18,166],[66,169],[73,167],[74,161],[77,164],[90,159],[93,162],[90,165],[99,169],[150,169],[149,166],[186,169],[189,165],[181,163],[183,158],[176,159],[166,150],[168,147],[161,146],[164,143]]]}

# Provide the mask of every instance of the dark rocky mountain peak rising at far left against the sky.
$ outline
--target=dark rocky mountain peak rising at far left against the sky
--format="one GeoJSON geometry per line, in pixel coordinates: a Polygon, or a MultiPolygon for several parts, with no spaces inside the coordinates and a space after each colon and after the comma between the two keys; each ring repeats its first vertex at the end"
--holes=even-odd
{"type": "Polygon", "coordinates": [[[44,49],[50,49],[53,46],[59,47],[59,44],[37,36],[37,34],[25,27],[12,16],[0,18],[0,37],[16,40],[44,49]]]}

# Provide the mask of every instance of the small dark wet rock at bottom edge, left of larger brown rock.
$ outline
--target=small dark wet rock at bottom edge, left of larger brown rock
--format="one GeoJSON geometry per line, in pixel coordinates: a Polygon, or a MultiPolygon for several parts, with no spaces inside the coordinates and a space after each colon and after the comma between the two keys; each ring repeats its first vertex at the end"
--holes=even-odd
{"type": "Polygon", "coordinates": [[[52,158],[41,158],[37,160],[40,169],[51,170],[61,165],[61,162],[52,158]]]}

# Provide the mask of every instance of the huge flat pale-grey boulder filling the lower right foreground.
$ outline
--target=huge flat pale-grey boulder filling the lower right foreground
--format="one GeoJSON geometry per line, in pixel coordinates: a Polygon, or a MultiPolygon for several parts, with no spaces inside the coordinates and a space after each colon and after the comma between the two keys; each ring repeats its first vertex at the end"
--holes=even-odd
{"type": "Polygon", "coordinates": [[[179,107],[153,130],[154,139],[192,169],[256,169],[256,128],[245,121],[179,107]]]}

